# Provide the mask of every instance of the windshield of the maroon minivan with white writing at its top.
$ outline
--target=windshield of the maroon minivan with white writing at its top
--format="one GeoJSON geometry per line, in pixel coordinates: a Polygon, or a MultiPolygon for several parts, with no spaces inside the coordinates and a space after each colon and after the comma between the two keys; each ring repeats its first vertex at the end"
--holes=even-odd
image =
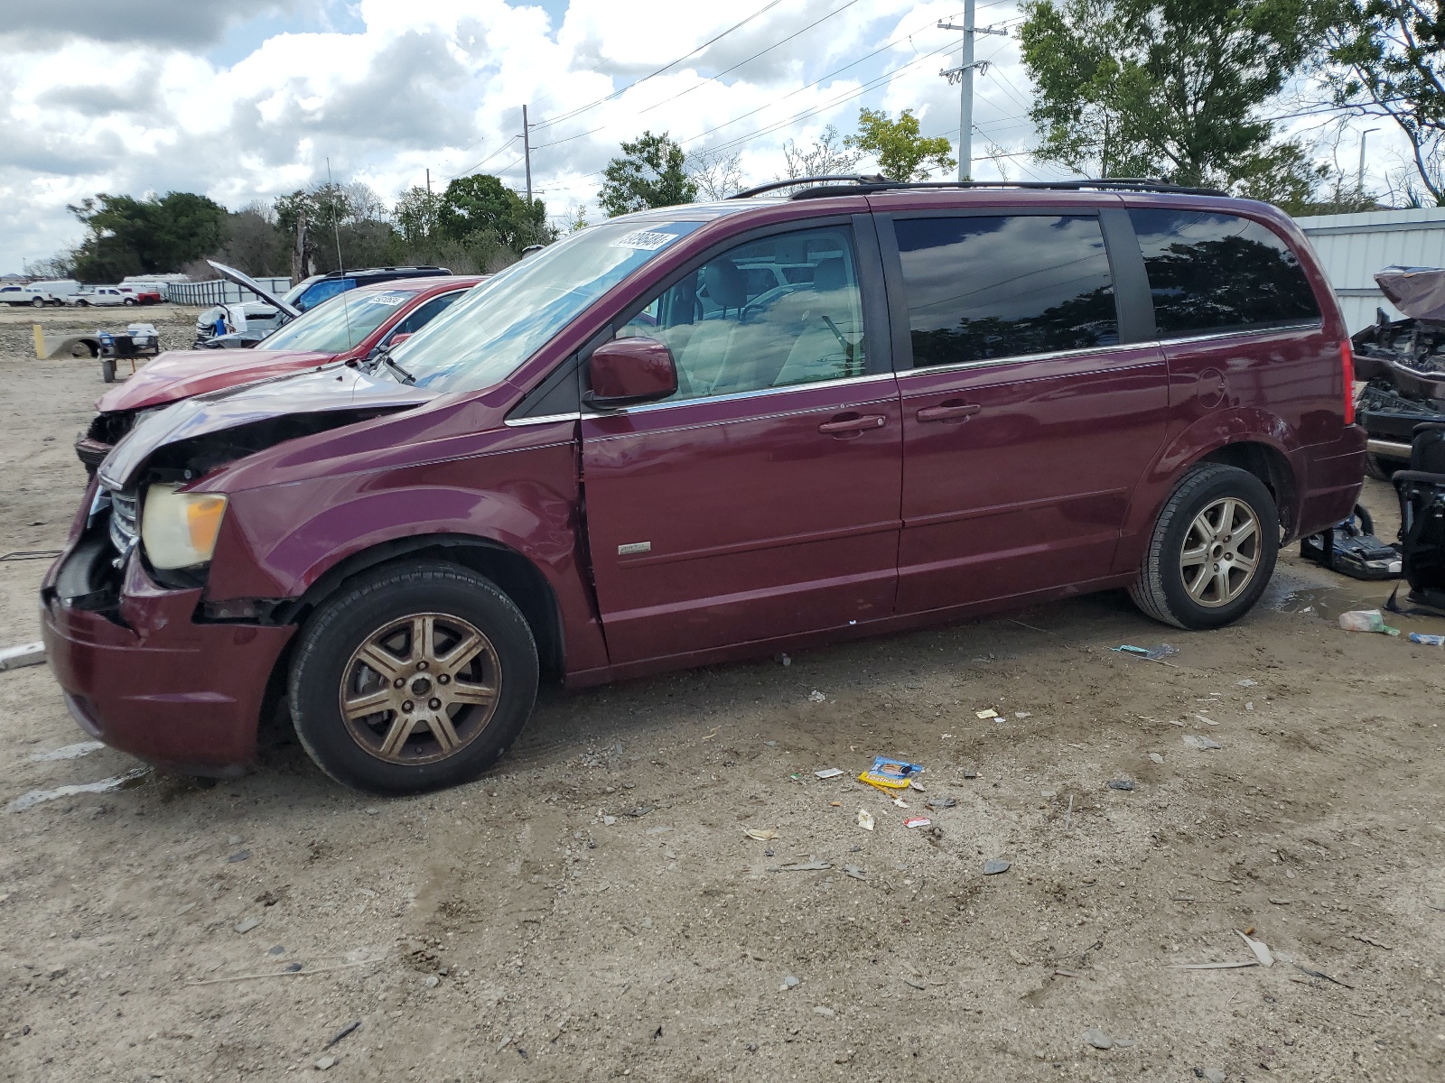
{"type": "MultiPolygon", "coordinates": [[[[392,351],[419,387],[501,383],[548,339],[702,222],[604,222],[514,263],[392,351]]],[[[269,345],[269,344],[267,344],[269,345]]]]}

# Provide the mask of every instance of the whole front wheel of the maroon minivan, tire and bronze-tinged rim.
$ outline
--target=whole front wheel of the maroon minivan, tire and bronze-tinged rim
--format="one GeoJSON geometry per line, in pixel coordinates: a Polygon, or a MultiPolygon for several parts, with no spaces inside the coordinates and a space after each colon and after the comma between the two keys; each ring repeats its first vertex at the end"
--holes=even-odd
{"type": "Polygon", "coordinates": [[[390,565],[306,622],[290,669],[301,744],[344,786],[406,794],[467,783],[512,747],[538,689],[516,604],[457,565],[390,565]]]}

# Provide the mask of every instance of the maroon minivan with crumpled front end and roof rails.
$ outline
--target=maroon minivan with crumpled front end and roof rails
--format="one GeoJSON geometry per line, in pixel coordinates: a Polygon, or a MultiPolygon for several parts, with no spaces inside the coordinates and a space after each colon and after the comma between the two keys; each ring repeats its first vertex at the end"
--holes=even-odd
{"type": "Polygon", "coordinates": [[[419,791],[542,676],[1111,588],[1215,628],[1353,508],[1350,341],[1279,211],[837,180],[595,225],[392,355],[146,414],[42,588],[79,725],[224,774],[285,700],[332,778],[419,791]]]}

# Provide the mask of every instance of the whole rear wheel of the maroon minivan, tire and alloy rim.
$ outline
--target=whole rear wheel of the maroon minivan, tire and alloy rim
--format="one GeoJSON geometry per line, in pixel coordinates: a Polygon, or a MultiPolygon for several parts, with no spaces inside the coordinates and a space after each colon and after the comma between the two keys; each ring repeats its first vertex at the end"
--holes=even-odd
{"type": "Polygon", "coordinates": [[[1277,554],[1279,511],[1264,484],[1204,464],[1165,501],[1129,596],[1176,628],[1220,628],[1254,606],[1277,554]]]}

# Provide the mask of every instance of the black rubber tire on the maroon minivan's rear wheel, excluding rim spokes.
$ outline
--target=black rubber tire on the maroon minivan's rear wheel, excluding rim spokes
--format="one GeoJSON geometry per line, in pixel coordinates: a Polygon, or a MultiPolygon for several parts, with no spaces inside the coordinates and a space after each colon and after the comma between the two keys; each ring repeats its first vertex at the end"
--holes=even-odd
{"type": "MultiPolygon", "coordinates": [[[[1228,542],[1231,536],[1225,534],[1228,542]]],[[[1234,544],[1247,544],[1235,542],[1234,544]]],[[[1248,556],[1248,554],[1244,554],[1248,556]]],[[[1274,572],[1279,556],[1279,510],[1274,498],[1263,482],[1248,471],[1222,464],[1195,466],[1175,487],[1155,521],[1144,565],[1139,579],[1129,588],[1129,596],[1146,615],[1176,628],[1221,628],[1247,614],[1264,593],[1274,572]],[[1195,521],[1209,508],[1221,507],[1220,501],[1233,498],[1253,513],[1257,539],[1253,550],[1253,573],[1235,588],[1230,579],[1228,565],[1208,563],[1208,569],[1225,567],[1222,582],[1237,595],[1218,589],[1218,573],[1211,575],[1204,565],[1199,576],[1212,579],[1205,591],[1214,591],[1212,599],[1199,601],[1191,596],[1185,583],[1182,560],[1185,543],[1198,542],[1194,534],[1195,521]],[[1222,595],[1222,596],[1221,596],[1222,595]]],[[[1233,556],[1231,556],[1233,559],[1233,556]]],[[[1237,565],[1234,566],[1237,569],[1237,565]]]]}

